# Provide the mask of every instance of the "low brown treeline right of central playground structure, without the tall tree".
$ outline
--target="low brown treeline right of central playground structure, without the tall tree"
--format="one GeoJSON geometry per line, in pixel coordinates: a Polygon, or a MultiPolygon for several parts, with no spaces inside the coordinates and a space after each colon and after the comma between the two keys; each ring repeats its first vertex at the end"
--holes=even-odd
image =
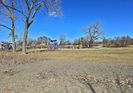
{"type": "Polygon", "coordinates": [[[119,36],[112,39],[103,38],[101,40],[96,40],[89,42],[87,37],[81,37],[75,39],[73,42],[70,40],[61,39],[60,45],[70,48],[69,45],[78,45],[78,48],[92,48],[92,47],[129,47],[133,45],[133,37],[130,36],[119,36]],[[91,44],[90,44],[91,43],[91,44]],[[91,46],[90,46],[91,45],[91,46]]]}

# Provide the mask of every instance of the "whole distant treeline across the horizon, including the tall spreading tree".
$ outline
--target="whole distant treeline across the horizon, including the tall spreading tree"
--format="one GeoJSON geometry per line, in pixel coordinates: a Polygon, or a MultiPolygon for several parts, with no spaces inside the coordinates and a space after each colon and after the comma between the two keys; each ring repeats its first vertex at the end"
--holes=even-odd
{"type": "MultiPolygon", "coordinates": [[[[64,35],[61,35],[58,41],[58,46],[60,48],[92,48],[96,46],[128,47],[129,45],[133,45],[133,37],[130,36],[118,36],[112,39],[107,39],[103,35],[99,22],[95,22],[94,24],[84,28],[82,31],[85,35],[73,41],[67,40],[64,35]]],[[[28,47],[39,47],[41,45],[47,46],[50,40],[51,39],[47,36],[40,36],[36,40],[30,38],[28,39],[27,45],[28,47]]]]}

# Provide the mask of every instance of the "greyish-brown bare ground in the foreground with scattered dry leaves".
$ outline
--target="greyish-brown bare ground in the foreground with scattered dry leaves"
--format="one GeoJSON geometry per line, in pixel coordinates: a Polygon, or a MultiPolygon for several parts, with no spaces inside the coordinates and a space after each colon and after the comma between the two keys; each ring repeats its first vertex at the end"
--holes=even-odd
{"type": "Polygon", "coordinates": [[[69,59],[0,64],[0,93],[133,93],[133,64],[69,59]]]}

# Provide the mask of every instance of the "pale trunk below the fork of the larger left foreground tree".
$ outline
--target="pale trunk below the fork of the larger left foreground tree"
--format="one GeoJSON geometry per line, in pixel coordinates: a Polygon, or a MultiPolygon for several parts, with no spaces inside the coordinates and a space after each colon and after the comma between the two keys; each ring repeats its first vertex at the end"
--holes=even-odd
{"type": "Polygon", "coordinates": [[[25,31],[24,31],[24,38],[23,38],[23,47],[22,47],[22,53],[26,54],[26,46],[27,46],[27,36],[28,36],[28,22],[25,24],[25,31]]]}

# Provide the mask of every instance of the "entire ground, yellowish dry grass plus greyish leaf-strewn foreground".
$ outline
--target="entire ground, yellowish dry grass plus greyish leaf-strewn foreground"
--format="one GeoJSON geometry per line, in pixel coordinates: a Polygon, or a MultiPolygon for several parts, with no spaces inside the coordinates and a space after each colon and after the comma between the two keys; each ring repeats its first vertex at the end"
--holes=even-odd
{"type": "Polygon", "coordinates": [[[0,52],[0,93],[133,93],[133,48],[0,52]]]}

